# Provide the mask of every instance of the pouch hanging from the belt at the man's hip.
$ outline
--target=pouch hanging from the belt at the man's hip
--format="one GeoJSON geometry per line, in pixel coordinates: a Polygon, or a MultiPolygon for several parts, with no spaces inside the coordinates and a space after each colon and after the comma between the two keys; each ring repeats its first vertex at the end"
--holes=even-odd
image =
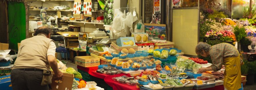
{"type": "Polygon", "coordinates": [[[51,84],[51,78],[52,78],[51,71],[43,70],[43,78],[42,78],[41,86],[45,86],[45,85],[51,84]]]}

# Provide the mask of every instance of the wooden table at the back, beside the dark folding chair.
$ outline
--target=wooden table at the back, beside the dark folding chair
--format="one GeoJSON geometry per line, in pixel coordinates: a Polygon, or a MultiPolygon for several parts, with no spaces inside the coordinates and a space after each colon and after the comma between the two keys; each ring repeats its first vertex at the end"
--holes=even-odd
{"type": "Polygon", "coordinates": [[[64,36],[65,43],[67,48],[76,48],[79,45],[78,42],[78,32],[56,32],[59,35],[64,36]],[[75,35],[75,36],[69,36],[69,35],[75,35]]]}

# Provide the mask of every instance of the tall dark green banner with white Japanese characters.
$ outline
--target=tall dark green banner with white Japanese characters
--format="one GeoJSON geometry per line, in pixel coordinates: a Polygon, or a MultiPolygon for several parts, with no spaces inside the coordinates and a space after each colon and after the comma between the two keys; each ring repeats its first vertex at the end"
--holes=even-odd
{"type": "Polygon", "coordinates": [[[113,18],[114,18],[113,2],[114,0],[106,0],[105,2],[104,25],[110,25],[110,22],[113,21],[113,18]]]}

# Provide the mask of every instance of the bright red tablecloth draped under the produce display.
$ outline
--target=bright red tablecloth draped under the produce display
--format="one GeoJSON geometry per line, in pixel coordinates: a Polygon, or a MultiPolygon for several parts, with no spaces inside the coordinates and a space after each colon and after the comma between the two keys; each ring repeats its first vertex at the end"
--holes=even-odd
{"type": "MultiPolygon", "coordinates": [[[[139,89],[136,88],[136,86],[130,86],[130,85],[127,85],[127,84],[118,83],[117,81],[114,81],[112,79],[113,77],[118,77],[118,76],[123,76],[123,75],[131,77],[130,74],[124,74],[124,73],[116,74],[116,75],[100,74],[100,73],[96,72],[98,67],[81,67],[79,65],[77,65],[77,69],[88,72],[90,75],[92,75],[94,77],[104,79],[104,81],[110,87],[112,87],[113,90],[139,90],[139,89]]],[[[200,90],[224,90],[224,87],[223,87],[223,85],[219,85],[219,86],[215,86],[213,88],[200,89],[200,90]]]]}

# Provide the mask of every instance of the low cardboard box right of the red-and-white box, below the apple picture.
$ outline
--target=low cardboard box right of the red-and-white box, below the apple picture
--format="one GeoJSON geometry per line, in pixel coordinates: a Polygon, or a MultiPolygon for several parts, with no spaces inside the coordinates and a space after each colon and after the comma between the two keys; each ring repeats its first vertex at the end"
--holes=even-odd
{"type": "Polygon", "coordinates": [[[169,49],[169,48],[173,48],[174,47],[174,42],[169,42],[167,41],[167,43],[156,43],[154,45],[154,49],[169,49]]]}

